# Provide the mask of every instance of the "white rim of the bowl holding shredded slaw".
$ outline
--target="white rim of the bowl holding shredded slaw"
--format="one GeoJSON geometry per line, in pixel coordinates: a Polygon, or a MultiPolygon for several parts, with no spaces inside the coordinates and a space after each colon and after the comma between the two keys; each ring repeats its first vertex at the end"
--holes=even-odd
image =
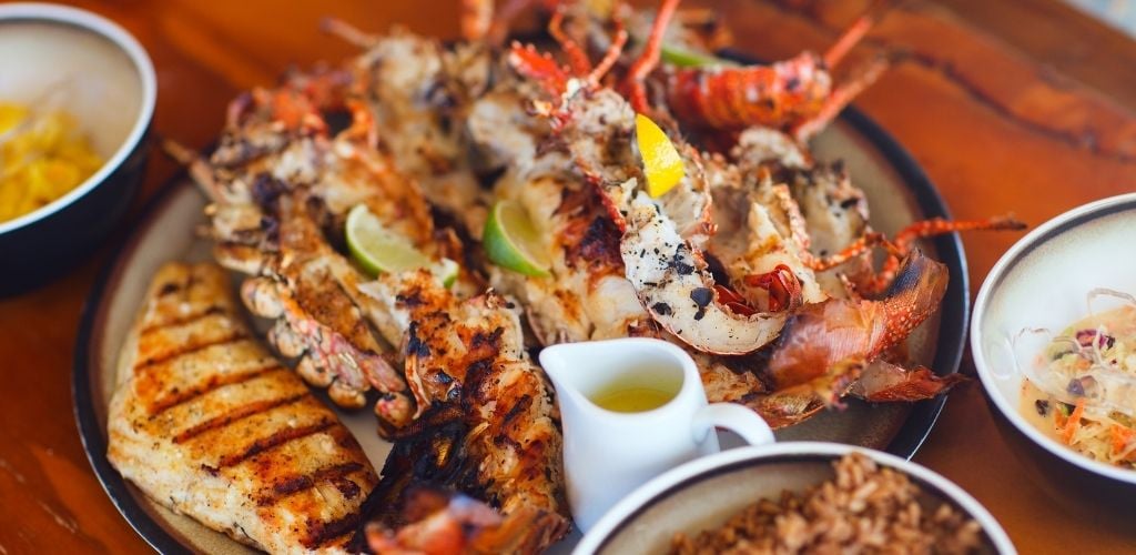
{"type": "Polygon", "coordinates": [[[1018,431],[1026,434],[1026,437],[1045,450],[1061,457],[1070,464],[1113,480],[1136,483],[1136,471],[1093,461],[1059,444],[1053,438],[1045,436],[1041,430],[1037,430],[1033,424],[1027,422],[1026,419],[1019,414],[1018,404],[1006,399],[997,387],[994,386],[994,375],[989,370],[989,365],[987,364],[986,355],[983,351],[982,346],[983,316],[986,314],[986,306],[989,304],[991,297],[1002,284],[1006,274],[1013,268],[1014,265],[1018,264],[1019,260],[1028,256],[1035,248],[1052,240],[1068,229],[1083,225],[1096,217],[1125,209],[1136,209],[1136,193],[1119,194],[1078,206],[1077,208],[1045,222],[1034,231],[1029,232],[1026,237],[1021,238],[1013,245],[1013,247],[1010,247],[1010,250],[1002,255],[1002,258],[999,259],[997,264],[991,268],[991,273],[986,276],[982,289],[978,291],[978,299],[975,301],[975,312],[971,314],[970,321],[970,351],[974,355],[975,368],[978,371],[978,378],[983,382],[983,387],[986,389],[986,395],[994,400],[994,405],[997,406],[997,409],[1003,416],[1006,417],[1006,420],[1010,421],[1011,424],[1013,424],[1014,428],[1018,429],[1018,431]]]}

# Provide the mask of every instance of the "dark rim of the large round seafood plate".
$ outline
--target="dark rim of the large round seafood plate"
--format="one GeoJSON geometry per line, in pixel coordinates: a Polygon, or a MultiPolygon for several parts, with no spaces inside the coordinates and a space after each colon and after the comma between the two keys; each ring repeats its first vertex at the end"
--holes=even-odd
{"type": "MultiPolygon", "coordinates": [[[[746,59],[742,56],[734,56],[746,59]]],[[[840,121],[851,125],[857,133],[868,140],[899,174],[908,187],[924,217],[950,217],[946,202],[935,189],[930,179],[919,164],[895,139],[854,106],[849,106],[840,116],[840,121]]],[[[103,436],[94,411],[90,383],[90,362],[93,355],[91,341],[94,336],[94,323],[107,297],[107,285],[123,263],[125,254],[132,251],[131,246],[141,237],[141,230],[152,225],[160,208],[174,198],[174,192],[184,187],[187,175],[178,172],[167,181],[150,198],[137,216],[139,224],[123,237],[114,250],[116,255],[108,260],[91,288],[91,293],[83,306],[80,318],[78,334],[75,340],[75,359],[72,373],[72,398],[74,401],[75,422],[80,439],[86,452],[87,461],[102,483],[110,500],[152,548],[159,553],[190,553],[174,536],[150,517],[150,514],[132,495],[126,481],[110,465],[106,457],[107,440],[103,436]]],[[[951,280],[943,298],[939,316],[938,341],[935,348],[933,368],[938,375],[958,373],[962,361],[966,342],[968,314],[970,310],[970,281],[967,273],[967,259],[962,241],[958,233],[939,235],[932,240],[939,262],[946,264],[951,280]]],[[[910,459],[927,439],[932,428],[938,420],[946,403],[946,396],[922,400],[911,406],[903,425],[884,449],[893,455],[910,459]]]]}

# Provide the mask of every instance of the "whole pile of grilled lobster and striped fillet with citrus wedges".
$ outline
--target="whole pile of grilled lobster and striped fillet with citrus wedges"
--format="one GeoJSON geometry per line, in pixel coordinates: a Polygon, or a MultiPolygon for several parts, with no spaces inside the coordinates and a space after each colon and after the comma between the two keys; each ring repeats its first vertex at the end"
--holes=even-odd
{"type": "Polygon", "coordinates": [[[210,152],[166,142],[211,263],[134,300],[108,413],[159,505],[269,552],[536,553],[571,530],[544,346],[674,342],[788,433],[960,380],[907,348],[953,278],[920,240],[1020,224],[885,233],[813,152],[886,68],[833,76],[869,17],[736,65],[675,0],[504,3],[454,42],[325,22],[359,53],[241,94],[210,152]],[[504,39],[519,9],[546,40],[504,39]]]}

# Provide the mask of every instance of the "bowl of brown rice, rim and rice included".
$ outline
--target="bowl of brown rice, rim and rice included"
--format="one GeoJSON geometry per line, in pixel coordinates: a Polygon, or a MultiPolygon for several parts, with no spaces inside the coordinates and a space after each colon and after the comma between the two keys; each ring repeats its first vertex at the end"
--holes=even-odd
{"type": "Polygon", "coordinates": [[[1013,554],[945,478],[827,442],[742,447],[678,466],[608,512],[576,554],[1013,554]]]}

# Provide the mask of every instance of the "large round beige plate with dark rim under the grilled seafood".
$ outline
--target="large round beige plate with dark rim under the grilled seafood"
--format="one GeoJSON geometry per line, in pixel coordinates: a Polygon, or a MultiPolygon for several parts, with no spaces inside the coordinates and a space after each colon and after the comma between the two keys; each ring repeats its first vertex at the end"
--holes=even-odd
{"type": "MultiPolygon", "coordinates": [[[[889,135],[861,113],[849,109],[815,142],[818,159],[843,159],[853,182],[869,199],[871,223],[894,232],[927,217],[949,216],[943,200],[919,166],[889,135]]],[[[75,354],[75,419],[91,465],[131,524],[161,553],[242,553],[248,548],[194,521],[150,502],[126,483],[106,458],[107,403],[115,383],[119,347],[150,276],[167,260],[199,260],[209,245],[194,230],[203,222],[204,198],[181,175],[153,198],[136,229],[102,272],[85,308],[75,354]]],[[[951,284],[943,307],[911,337],[909,353],[939,374],[958,371],[968,312],[967,268],[957,235],[921,245],[945,263],[951,284]]],[[[779,440],[818,440],[887,450],[910,457],[935,424],[945,398],[917,404],[869,405],[847,401],[843,411],[820,414],[778,432],[779,440]]],[[[369,411],[341,413],[344,423],[382,469],[389,444],[376,434],[369,411]]],[[[567,552],[579,536],[553,548],[567,552]]]]}

